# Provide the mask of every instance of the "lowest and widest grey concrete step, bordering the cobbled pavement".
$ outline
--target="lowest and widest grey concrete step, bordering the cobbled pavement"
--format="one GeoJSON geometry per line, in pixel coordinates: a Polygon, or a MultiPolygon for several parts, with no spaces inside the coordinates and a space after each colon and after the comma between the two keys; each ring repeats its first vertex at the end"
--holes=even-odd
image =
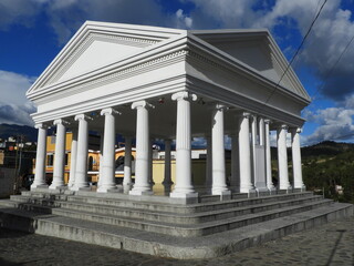
{"type": "Polygon", "coordinates": [[[131,228],[69,217],[33,215],[33,213],[19,209],[0,208],[0,221],[2,226],[7,228],[179,259],[223,256],[348,216],[353,216],[352,204],[334,203],[300,214],[274,218],[262,224],[209,236],[190,237],[186,241],[181,237],[137,232],[131,228]]]}

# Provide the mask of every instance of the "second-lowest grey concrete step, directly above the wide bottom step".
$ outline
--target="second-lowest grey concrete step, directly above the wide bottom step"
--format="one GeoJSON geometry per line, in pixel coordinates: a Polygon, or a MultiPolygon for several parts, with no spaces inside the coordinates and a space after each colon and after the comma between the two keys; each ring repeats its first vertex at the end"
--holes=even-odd
{"type": "Polygon", "coordinates": [[[321,200],[316,202],[304,203],[296,206],[287,206],[282,208],[266,211],[256,214],[247,214],[237,217],[229,217],[221,221],[211,221],[200,224],[176,224],[165,222],[145,221],[142,218],[119,217],[114,215],[103,215],[91,212],[77,212],[65,208],[53,208],[52,214],[77,218],[83,221],[96,222],[102,224],[110,224],[123,226],[134,229],[154,232],[159,234],[190,237],[216,234],[223,231],[247,226],[250,224],[261,223],[264,221],[291,215],[294,213],[305,212],[309,209],[317,208],[323,205],[330,205],[333,202],[330,200],[321,200]]]}

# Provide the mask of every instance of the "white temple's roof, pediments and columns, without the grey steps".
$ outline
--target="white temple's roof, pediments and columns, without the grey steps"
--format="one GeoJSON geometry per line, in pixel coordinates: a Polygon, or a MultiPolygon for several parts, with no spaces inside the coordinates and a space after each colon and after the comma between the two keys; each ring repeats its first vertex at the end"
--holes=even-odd
{"type": "MultiPolygon", "coordinates": [[[[152,141],[165,140],[165,178],[170,180],[170,144],[176,142],[171,198],[197,198],[191,175],[191,140],[207,140],[206,187],[212,195],[271,193],[270,131],[277,131],[279,187],[303,190],[299,133],[310,103],[268,30],[187,31],[85,22],[28,91],[38,106],[35,178],[45,186],[48,126],[56,126],[53,182],[64,187],[65,145],[71,145],[67,188],[88,188],[88,132],[103,137],[97,193],[116,188],[115,140],[125,136],[126,157],[136,140],[131,195],[152,190],[152,141]],[[70,144],[66,131],[73,132],[70,144]],[[289,182],[287,135],[291,134],[293,183],[289,182]],[[232,140],[227,185],[225,136],[232,140]]],[[[131,182],[131,161],[124,178],[131,182]]]]}

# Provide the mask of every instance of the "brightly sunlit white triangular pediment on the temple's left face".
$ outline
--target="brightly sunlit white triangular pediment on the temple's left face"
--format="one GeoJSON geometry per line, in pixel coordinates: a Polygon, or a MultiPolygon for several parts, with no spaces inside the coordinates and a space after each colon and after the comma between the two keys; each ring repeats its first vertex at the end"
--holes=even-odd
{"type": "Polygon", "coordinates": [[[28,91],[28,95],[153,49],[180,30],[87,21],[28,91]]]}

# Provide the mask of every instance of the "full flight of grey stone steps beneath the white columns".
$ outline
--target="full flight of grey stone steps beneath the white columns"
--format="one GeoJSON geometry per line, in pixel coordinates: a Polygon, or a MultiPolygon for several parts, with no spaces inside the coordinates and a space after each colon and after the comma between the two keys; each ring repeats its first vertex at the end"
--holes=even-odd
{"type": "Polygon", "coordinates": [[[0,201],[1,226],[176,258],[220,256],[353,215],[312,192],[231,200],[37,190],[0,201]]]}

